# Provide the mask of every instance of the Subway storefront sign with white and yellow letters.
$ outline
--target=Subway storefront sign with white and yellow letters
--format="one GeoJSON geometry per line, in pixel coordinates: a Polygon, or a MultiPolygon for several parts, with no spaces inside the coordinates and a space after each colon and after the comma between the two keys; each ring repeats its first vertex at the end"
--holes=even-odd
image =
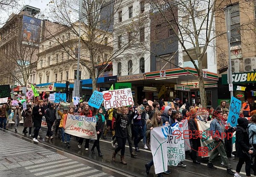
{"type": "MultiPolygon", "coordinates": [[[[256,72],[232,74],[233,84],[247,84],[256,82],[256,72]]],[[[222,84],[227,84],[227,74],[221,76],[222,84]]]]}

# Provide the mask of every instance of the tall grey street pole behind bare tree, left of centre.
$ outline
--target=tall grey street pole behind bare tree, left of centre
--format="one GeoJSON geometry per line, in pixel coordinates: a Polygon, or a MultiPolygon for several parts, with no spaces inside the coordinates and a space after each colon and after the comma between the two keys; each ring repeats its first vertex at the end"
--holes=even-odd
{"type": "Polygon", "coordinates": [[[80,62],[80,51],[81,51],[81,18],[82,18],[82,0],[79,0],[79,39],[78,39],[78,53],[77,53],[77,70],[76,70],[76,83],[74,84],[75,96],[79,97],[79,62],[80,62]]]}

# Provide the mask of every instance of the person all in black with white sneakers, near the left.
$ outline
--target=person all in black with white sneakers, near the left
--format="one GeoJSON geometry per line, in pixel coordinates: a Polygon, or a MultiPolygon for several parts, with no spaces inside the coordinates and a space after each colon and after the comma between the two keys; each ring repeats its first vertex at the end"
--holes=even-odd
{"type": "Polygon", "coordinates": [[[38,133],[39,129],[42,124],[42,117],[44,116],[44,107],[43,107],[43,100],[38,100],[38,105],[33,107],[32,114],[33,114],[33,122],[34,122],[34,136],[33,136],[33,141],[38,142],[38,133]]]}

